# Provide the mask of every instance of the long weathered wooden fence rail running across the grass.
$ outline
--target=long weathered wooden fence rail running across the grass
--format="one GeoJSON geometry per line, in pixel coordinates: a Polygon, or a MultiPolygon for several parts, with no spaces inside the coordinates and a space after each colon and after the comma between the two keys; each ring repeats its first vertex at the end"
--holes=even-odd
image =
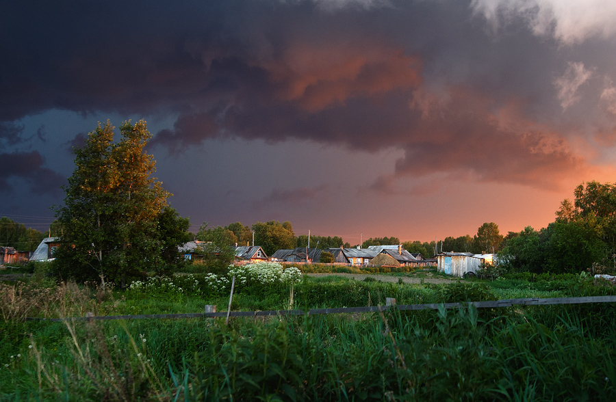
{"type": "Polygon", "coordinates": [[[318,315],[318,314],[349,314],[356,312],[378,312],[389,308],[398,310],[436,310],[439,306],[444,308],[461,308],[472,304],[476,308],[502,308],[511,306],[550,306],[556,304],[588,304],[588,303],[616,303],[616,296],[591,297],[554,297],[550,299],[504,299],[487,302],[470,303],[432,303],[432,304],[392,304],[392,306],[369,307],[343,307],[343,308],[314,308],[308,312],[303,310],[264,310],[264,311],[231,311],[231,312],[192,312],[185,314],[139,314],[139,315],[105,315],[99,317],[69,317],[66,319],[46,319],[27,317],[26,321],[90,321],[90,320],[130,320],[130,319],[183,319],[183,318],[215,318],[215,317],[264,317],[272,315],[318,315]]]}

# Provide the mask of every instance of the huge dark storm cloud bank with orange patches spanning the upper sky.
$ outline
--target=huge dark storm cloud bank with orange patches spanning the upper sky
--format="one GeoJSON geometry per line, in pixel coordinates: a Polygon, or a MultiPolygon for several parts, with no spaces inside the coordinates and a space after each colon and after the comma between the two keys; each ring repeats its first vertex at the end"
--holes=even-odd
{"type": "Polygon", "coordinates": [[[587,170],[567,135],[586,133],[595,117],[561,133],[563,109],[590,105],[579,90],[592,75],[606,82],[595,106],[611,110],[616,71],[563,51],[575,40],[528,23],[518,2],[499,4],[3,4],[0,120],[51,108],[161,113],[177,120],[151,146],[176,153],[208,138],[296,138],[404,150],[373,186],[382,191],[433,172],[557,187],[559,176],[587,170]],[[507,11],[522,14],[501,30],[493,21],[507,11]]]}

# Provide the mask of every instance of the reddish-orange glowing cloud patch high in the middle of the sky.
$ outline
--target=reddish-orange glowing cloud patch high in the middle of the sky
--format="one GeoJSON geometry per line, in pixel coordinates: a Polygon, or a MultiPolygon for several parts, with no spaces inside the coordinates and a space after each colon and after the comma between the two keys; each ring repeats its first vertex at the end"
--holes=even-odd
{"type": "Polygon", "coordinates": [[[279,85],[279,98],[296,101],[307,111],[421,82],[420,60],[383,44],[298,43],[266,68],[279,85]]]}

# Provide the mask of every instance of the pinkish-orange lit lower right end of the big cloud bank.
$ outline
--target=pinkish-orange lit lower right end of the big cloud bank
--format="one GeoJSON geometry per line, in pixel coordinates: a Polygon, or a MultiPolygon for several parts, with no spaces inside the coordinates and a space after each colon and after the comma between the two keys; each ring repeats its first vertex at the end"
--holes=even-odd
{"type": "Polygon", "coordinates": [[[421,94],[409,105],[422,118],[409,128],[396,176],[443,172],[556,190],[591,172],[565,135],[525,118],[519,101],[499,105],[469,88],[449,88],[441,97],[421,94]]]}

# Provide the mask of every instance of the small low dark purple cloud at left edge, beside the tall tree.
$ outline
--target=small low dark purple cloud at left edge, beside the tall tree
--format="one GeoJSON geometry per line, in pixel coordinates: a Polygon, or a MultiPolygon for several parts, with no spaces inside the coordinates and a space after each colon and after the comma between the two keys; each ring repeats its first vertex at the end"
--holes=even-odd
{"type": "Polygon", "coordinates": [[[44,160],[37,151],[0,154],[0,191],[12,191],[14,186],[28,185],[36,194],[61,193],[66,179],[42,167],[44,160]],[[14,184],[9,180],[14,179],[14,184]]]}

